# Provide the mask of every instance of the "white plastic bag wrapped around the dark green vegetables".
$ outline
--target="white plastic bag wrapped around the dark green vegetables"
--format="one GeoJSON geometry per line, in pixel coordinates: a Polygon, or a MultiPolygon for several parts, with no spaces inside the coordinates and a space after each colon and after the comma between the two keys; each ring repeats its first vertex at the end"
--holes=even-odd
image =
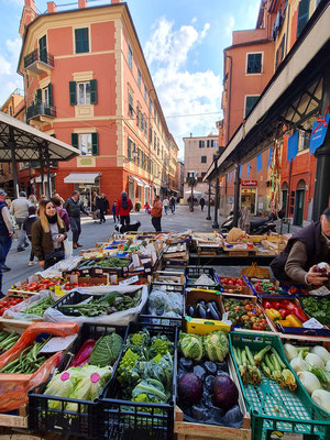
{"type": "MultiPolygon", "coordinates": [[[[75,321],[79,326],[81,326],[84,322],[90,322],[90,323],[108,323],[108,324],[117,324],[117,326],[128,326],[131,321],[135,321],[138,319],[138,316],[141,314],[143,310],[143,307],[147,300],[147,287],[145,285],[142,286],[95,286],[95,287],[82,287],[75,289],[75,292],[78,292],[84,295],[105,295],[109,294],[110,292],[119,292],[121,294],[129,294],[129,293],[135,293],[136,290],[142,288],[142,296],[141,296],[141,301],[140,304],[131,309],[119,311],[117,314],[112,315],[103,315],[99,317],[72,317],[72,316],[66,316],[62,314],[59,310],[50,307],[45,312],[44,312],[44,320],[48,322],[70,322],[75,321]]],[[[68,293],[69,294],[69,293],[68,293]]]]}

